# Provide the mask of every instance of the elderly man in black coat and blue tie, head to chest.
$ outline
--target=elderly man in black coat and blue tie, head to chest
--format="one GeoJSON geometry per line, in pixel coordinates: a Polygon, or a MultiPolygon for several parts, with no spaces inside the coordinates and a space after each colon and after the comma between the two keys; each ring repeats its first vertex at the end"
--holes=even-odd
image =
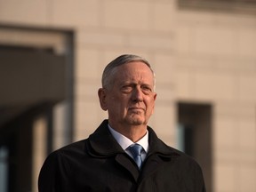
{"type": "MultiPolygon", "coordinates": [[[[108,111],[88,139],[54,151],[44,162],[39,192],[204,192],[200,166],[157,138],[148,126],[155,75],[147,60],[121,55],[102,75],[100,107],[108,111]]],[[[168,124],[168,122],[166,122],[168,124]]]]}

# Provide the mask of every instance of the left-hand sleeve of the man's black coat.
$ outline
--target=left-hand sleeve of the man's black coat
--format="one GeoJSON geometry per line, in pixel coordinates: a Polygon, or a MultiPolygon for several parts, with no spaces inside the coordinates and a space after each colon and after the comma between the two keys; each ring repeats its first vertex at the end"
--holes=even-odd
{"type": "Polygon", "coordinates": [[[57,152],[46,158],[38,178],[39,192],[72,191],[68,163],[57,152]]]}

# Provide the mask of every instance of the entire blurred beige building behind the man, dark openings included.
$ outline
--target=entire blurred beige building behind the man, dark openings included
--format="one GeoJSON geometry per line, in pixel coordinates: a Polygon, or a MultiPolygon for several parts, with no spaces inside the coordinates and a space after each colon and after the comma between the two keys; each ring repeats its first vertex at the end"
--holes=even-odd
{"type": "Polygon", "coordinates": [[[54,149],[103,118],[109,61],[156,72],[150,124],[202,165],[207,191],[256,191],[256,1],[0,0],[0,191],[36,192],[54,149]]]}

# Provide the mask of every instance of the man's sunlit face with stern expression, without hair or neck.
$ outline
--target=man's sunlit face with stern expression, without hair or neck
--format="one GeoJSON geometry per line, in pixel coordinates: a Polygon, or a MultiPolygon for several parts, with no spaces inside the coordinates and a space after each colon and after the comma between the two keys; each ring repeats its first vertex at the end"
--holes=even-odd
{"type": "Polygon", "coordinates": [[[109,124],[148,124],[156,100],[152,71],[140,61],[121,65],[116,70],[112,88],[104,90],[100,101],[101,108],[108,110],[109,124]]]}

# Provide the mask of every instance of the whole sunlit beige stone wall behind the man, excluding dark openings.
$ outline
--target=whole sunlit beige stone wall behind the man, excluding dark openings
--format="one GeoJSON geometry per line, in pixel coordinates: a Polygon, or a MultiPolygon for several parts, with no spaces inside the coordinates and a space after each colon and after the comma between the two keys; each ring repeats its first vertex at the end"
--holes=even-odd
{"type": "Polygon", "coordinates": [[[177,101],[212,104],[214,191],[256,191],[255,15],[181,11],[167,0],[0,0],[0,24],[75,31],[75,140],[107,117],[102,69],[136,53],[156,70],[158,135],[175,146],[177,101]]]}

